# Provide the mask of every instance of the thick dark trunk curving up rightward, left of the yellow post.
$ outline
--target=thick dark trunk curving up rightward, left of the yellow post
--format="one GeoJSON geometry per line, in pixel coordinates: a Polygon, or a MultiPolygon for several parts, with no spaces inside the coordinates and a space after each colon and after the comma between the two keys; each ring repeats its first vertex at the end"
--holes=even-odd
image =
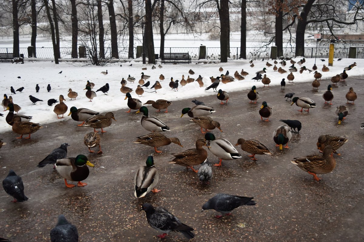
{"type": "Polygon", "coordinates": [[[296,30],[296,55],[305,57],[305,30],[307,25],[307,16],[310,12],[312,4],[315,0],[308,0],[305,6],[302,9],[300,14],[300,18],[298,18],[297,22],[297,30],[296,30]]]}

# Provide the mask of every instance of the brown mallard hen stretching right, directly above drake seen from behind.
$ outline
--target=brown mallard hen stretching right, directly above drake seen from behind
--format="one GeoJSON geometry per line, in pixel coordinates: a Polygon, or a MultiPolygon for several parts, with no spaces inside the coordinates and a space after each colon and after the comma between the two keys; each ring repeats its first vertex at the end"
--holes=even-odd
{"type": "Polygon", "coordinates": [[[178,138],[167,138],[160,132],[152,132],[137,138],[138,139],[133,142],[134,144],[145,144],[154,147],[156,153],[162,153],[162,151],[157,150],[158,147],[169,145],[170,143],[175,143],[183,147],[178,138]]]}

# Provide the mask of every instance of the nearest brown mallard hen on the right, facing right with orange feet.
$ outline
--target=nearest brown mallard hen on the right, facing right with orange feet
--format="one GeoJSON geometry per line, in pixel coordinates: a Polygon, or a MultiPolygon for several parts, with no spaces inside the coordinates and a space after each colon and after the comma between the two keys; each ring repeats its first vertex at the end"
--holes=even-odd
{"type": "Polygon", "coordinates": [[[332,156],[333,152],[336,152],[335,148],[329,145],[325,147],[323,154],[296,157],[291,162],[301,168],[301,170],[311,174],[314,180],[320,181],[322,178],[317,177],[316,174],[330,173],[336,166],[336,161],[332,156]]]}

